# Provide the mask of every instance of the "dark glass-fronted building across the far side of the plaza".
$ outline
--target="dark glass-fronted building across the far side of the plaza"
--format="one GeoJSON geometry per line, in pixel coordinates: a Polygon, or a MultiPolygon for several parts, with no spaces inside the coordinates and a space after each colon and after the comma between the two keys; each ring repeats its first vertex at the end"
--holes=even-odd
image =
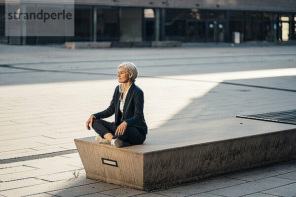
{"type": "Polygon", "coordinates": [[[233,42],[234,32],[241,41],[296,39],[296,0],[75,0],[74,36],[5,36],[4,15],[0,1],[0,40],[8,44],[233,42]]]}

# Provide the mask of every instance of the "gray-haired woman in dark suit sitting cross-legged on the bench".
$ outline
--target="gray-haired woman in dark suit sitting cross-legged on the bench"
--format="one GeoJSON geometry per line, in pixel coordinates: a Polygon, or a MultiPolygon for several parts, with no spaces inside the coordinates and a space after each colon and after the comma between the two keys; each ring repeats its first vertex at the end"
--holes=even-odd
{"type": "Polygon", "coordinates": [[[99,143],[111,143],[112,146],[121,147],[124,142],[142,144],[146,140],[148,128],[144,119],[144,94],[135,85],[138,76],[137,67],[126,62],[118,66],[118,82],[114,91],[110,106],[86,121],[86,128],[91,127],[99,134],[96,141],[99,143]],[[108,118],[115,113],[115,122],[110,123],[108,118]]]}

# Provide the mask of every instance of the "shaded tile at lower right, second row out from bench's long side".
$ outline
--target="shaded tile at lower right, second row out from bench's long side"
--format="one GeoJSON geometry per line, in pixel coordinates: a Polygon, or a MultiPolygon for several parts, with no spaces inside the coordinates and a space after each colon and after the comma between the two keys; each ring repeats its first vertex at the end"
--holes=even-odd
{"type": "Polygon", "coordinates": [[[290,184],[293,182],[295,181],[289,180],[289,179],[277,178],[277,177],[269,177],[269,178],[264,178],[257,181],[236,185],[236,186],[214,190],[214,191],[211,191],[211,194],[222,195],[227,197],[239,197],[239,196],[267,190],[270,188],[290,184]]]}

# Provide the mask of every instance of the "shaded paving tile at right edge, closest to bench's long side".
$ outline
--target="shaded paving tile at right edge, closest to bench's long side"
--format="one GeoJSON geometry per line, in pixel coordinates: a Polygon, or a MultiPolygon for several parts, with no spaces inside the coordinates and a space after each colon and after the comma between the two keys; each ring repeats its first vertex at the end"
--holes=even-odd
{"type": "Polygon", "coordinates": [[[246,180],[246,181],[254,181],[254,180],[259,180],[262,178],[280,175],[280,174],[284,174],[292,171],[296,171],[295,164],[291,164],[291,163],[277,164],[277,165],[272,165],[270,167],[264,167],[264,168],[254,169],[254,170],[245,171],[245,172],[233,173],[231,175],[228,175],[227,177],[246,180]]]}

